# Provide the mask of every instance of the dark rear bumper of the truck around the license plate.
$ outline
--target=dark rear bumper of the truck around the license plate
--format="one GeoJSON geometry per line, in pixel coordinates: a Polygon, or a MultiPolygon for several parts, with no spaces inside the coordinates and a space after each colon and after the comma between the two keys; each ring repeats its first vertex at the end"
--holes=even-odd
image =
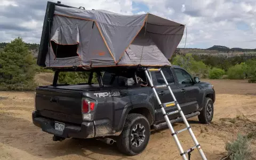
{"type": "Polygon", "coordinates": [[[65,123],[63,132],[54,129],[54,120],[45,117],[38,117],[36,111],[32,113],[33,123],[40,127],[42,131],[58,135],[63,138],[93,138],[94,137],[94,124],[93,122],[82,122],[80,125],[65,123]]]}

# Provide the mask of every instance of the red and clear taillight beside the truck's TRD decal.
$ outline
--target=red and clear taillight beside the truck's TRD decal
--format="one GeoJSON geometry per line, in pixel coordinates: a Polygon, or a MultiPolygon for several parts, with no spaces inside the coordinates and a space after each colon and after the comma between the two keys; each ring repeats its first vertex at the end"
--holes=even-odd
{"type": "Polygon", "coordinates": [[[82,100],[82,116],[85,121],[93,120],[93,110],[95,107],[95,101],[83,99],[82,100]]]}

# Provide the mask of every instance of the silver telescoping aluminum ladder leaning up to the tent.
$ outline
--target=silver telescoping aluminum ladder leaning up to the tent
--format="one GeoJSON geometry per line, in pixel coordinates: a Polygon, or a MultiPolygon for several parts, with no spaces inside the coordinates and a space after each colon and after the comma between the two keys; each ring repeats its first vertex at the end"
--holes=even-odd
{"type": "Polygon", "coordinates": [[[159,106],[161,106],[161,110],[162,110],[162,113],[163,113],[163,115],[164,115],[164,119],[165,119],[165,121],[166,121],[166,123],[167,123],[169,129],[171,130],[172,137],[173,137],[173,139],[174,139],[176,145],[178,146],[178,149],[179,149],[179,151],[180,151],[180,155],[182,156],[182,158],[183,158],[184,160],[187,160],[186,154],[188,154],[188,155],[189,155],[189,158],[190,158],[190,153],[191,153],[191,151],[193,151],[195,148],[197,148],[197,150],[199,151],[199,154],[201,155],[202,159],[204,159],[204,160],[207,159],[207,158],[205,157],[205,155],[204,155],[203,150],[201,149],[201,146],[199,145],[198,141],[196,140],[195,134],[193,133],[191,127],[189,126],[188,121],[187,121],[185,115],[183,114],[183,111],[181,110],[180,105],[179,105],[179,103],[177,102],[177,100],[176,100],[176,98],[175,98],[175,96],[174,96],[174,94],[173,94],[173,92],[172,92],[172,90],[171,90],[171,87],[169,86],[168,82],[166,81],[166,78],[165,78],[165,76],[164,76],[164,74],[163,74],[163,71],[162,71],[160,68],[147,68],[147,69],[145,70],[145,73],[146,73],[146,75],[147,75],[149,84],[150,84],[151,88],[153,89],[153,92],[154,92],[155,95],[156,95],[156,99],[157,99],[157,101],[158,101],[158,104],[159,104],[159,106]],[[150,78],[150,76],[149,76],[149,71],[159,71],[159,72],[161,73],[161,75],[163,76],[163,78],[164,78],[165,85],[154,86],[154,85],[153,85],[153,82],[152,82],[152,80],[151,80],[151,78],[150,78]],[[159,88],[159,87],[168,87],[168,89],[169,89],[169,91],[171,92],[171,95],[172,95],[172,98],[173,98],[174,101],[173,101],[173,102],[168,102],[168,103],[162,103],[161,100],[160,100],[159,97],[158,97],[157,92],[156,92],[156,88],[159,88]],[[164,109],[165,107],[170,107],[170,106],[175,106],[175,105],[177,106],[177,109],[178,109],[178,110],[172,111],[171,113],[166,113],[166,112],[165,112],[165,109],[164,109]],[[186,126],[187,126],[186,129],[180,130],[180,131],[178,131],[178,132],[175,132],[175,131],[174,131],[173,126],[172,126],[172,124],[171,124],[171,122],[170,122],[170,119],[168,118],[168,115],[173,115],[173,114],[176,114],[176,113],[180,113],[180,116],[182,117],[183,122],[184,122],[184,123],[186,124],[186,126]],[[189,134],[191,135],[191,137],[192,137],[192,139],[193,139],[193,141],[194,141],[194,143],[195,143],[195,146],[192,147],[192,148],[190,148],[190,149],[188,149],[187,151],[183,151],[183,149],[182,149],[182,147],[181,147],[181,145],[180,145],[180,141],[179,141],[179,139],[178,139],[178,137],[177,137],[177,134],[180,133],[180,132],[186,131],[186,130],[188,130],[189,134]]]}

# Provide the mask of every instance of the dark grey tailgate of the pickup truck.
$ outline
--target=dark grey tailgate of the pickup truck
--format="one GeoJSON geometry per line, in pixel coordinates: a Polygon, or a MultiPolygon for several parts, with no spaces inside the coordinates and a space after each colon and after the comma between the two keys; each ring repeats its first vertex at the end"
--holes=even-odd
{"type": "Polygon", "coordinates": [[[36,89],[35,105],[39,115],[61,122],[81,124],[82,119],[82,91],[36,89]]]}

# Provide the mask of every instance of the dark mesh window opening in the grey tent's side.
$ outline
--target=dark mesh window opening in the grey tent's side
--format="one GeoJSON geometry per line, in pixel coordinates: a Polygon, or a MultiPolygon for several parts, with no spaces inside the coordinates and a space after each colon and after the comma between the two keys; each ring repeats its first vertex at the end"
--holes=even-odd
{"type": "Polygon", "coordinates": [[[52,50],[56,58],[76,57],[79,44],[61,45],[51,41],[52,50]]]}

